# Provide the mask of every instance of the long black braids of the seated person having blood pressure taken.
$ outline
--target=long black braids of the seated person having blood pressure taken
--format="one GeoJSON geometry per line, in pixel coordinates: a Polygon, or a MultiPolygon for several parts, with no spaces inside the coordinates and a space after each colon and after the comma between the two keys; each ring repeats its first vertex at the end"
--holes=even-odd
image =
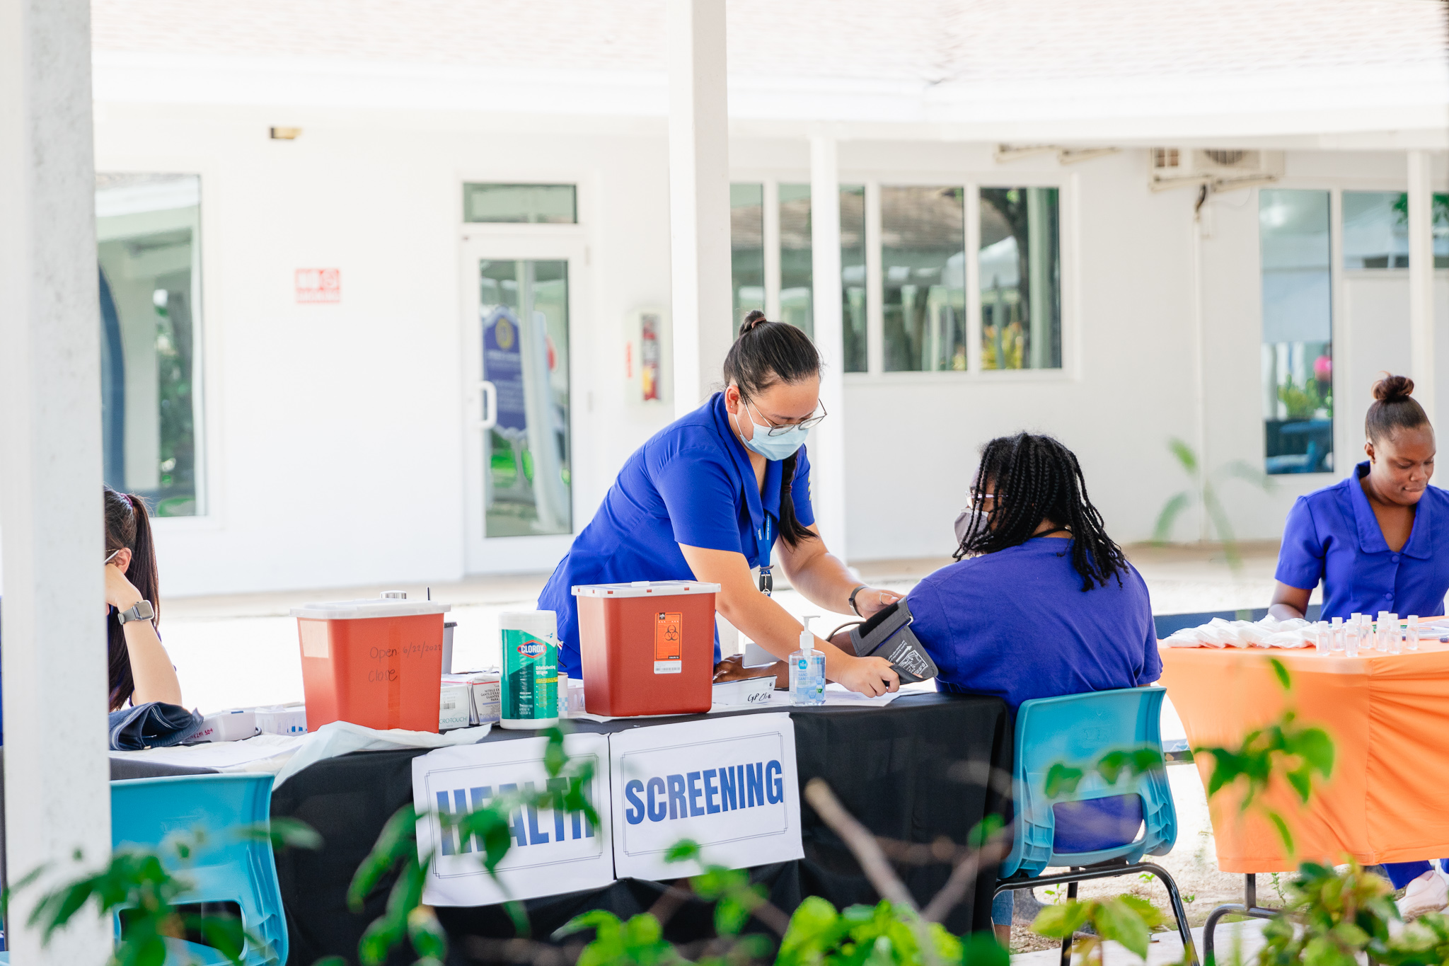
{"type": "Polygon", "coordinates": [[[1082,591],[1106,587],[1110,578],[1122,585],[1127,558],[1087,498],[1077,456],[1051,436],[1017,433],[982,446],[971,494],[971,526],[955,559],[1026,543],[1043,520],[1051,520],[1071,530],[1072,566],[1082,576],[1082,591]],[[982,508],[985,497],[994,498],[990,511],[982,508]]]}

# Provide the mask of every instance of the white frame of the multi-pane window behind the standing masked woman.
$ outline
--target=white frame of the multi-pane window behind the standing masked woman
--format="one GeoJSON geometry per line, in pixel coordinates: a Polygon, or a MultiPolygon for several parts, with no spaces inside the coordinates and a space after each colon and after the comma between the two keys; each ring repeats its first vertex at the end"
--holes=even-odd
{"type": "MultiPolygon", "coordinates": [[[[730,182],[764,185],[765,204],[765,314],[780,314],[780,184],[810,184],[809,168],[732,168],[730,182]]],[[[1077,324],[1080,285],[1077,278],[1077,198],[1080,175],[1062,171],[994,169],[988,174],[933,169],[891,171],[884,168],[846,168],[838,182],[865,187],[865,345],[867,371],[845,372],[848,384],[932,385],[965,382],[1074,382],[1080,379],[1077,324]],[[965,306],[966,369],[938,372],[887,372],[884,293],[881,291],[881,188],[949,185],[965,191],[965,306]],[[1056,188],[1062,280],[1062,365],[1058,369],[982,369],[981,368],[981,188],[1056,188]]],[[[814,196],[811,196],[814,204],[814,196]]],[[[814,280],[811,280],[813,282],[814,280]]]]}

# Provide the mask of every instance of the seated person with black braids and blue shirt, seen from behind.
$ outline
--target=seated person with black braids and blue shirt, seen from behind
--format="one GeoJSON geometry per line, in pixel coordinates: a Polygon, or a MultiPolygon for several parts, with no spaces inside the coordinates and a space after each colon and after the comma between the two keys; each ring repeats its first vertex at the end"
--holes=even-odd
{"type": "MultiPolygon", "coordinates": [[[[1051,436],[994,439],[956,520],[956,563],[906,595],[939,691],[1023,701],[1152,684],[1162,673],[1148,587],[1103,529],[1069,449],[1051,436]]],[[[1056,810],[1056,849],[1132,841],[1142,799],[1056,810]]],[[[1011,894],[993,905],[1010,938],[1011,894]]]]}

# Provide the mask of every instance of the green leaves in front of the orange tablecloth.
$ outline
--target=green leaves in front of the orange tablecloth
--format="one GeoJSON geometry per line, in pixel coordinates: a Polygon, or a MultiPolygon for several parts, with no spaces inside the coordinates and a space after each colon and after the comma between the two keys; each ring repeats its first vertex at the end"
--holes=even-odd
{"type": "MultiPolygon", "coordinates": [[[[1284,663],[1277,658],[1269,658],[1269,662],[1278,682],[1284,689],[1291,689],[1293,678],[1284,663]]],[[[1258,802],[1259,794],[1268,788],[1274,775],[1281,773],[1303,804],[1308,802],[1313,792],[1314,772],[1323,779],[1333,775],[1333,739],[1323,728],[1300,724],[1293,708],[1284,710],[1277,721],[1249,731],[1236,749],[1204,746],[1193,749],[1193,753],[1213,756],[1213,773],[1207,782],[1208,798],[1227,785],[1237,784],[1243,788],[1243,798],[1239,802],[1242,812],[1258,802]]],[[[1293,831],[1288,823],[1266,805],[1259,804],[1259,810],[1278,830],[1288,854],[1293,854],[1293,831]]]]}

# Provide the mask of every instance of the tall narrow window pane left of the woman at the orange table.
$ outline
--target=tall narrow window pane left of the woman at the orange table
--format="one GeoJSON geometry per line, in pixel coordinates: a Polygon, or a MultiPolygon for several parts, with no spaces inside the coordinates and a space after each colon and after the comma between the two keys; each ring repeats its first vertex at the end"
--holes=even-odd
{"type": "Polygon", "coordinates": [[[1265,469],[1332,472],[1329,193],[1278,188],[1258,198],[1265,469]]]}

